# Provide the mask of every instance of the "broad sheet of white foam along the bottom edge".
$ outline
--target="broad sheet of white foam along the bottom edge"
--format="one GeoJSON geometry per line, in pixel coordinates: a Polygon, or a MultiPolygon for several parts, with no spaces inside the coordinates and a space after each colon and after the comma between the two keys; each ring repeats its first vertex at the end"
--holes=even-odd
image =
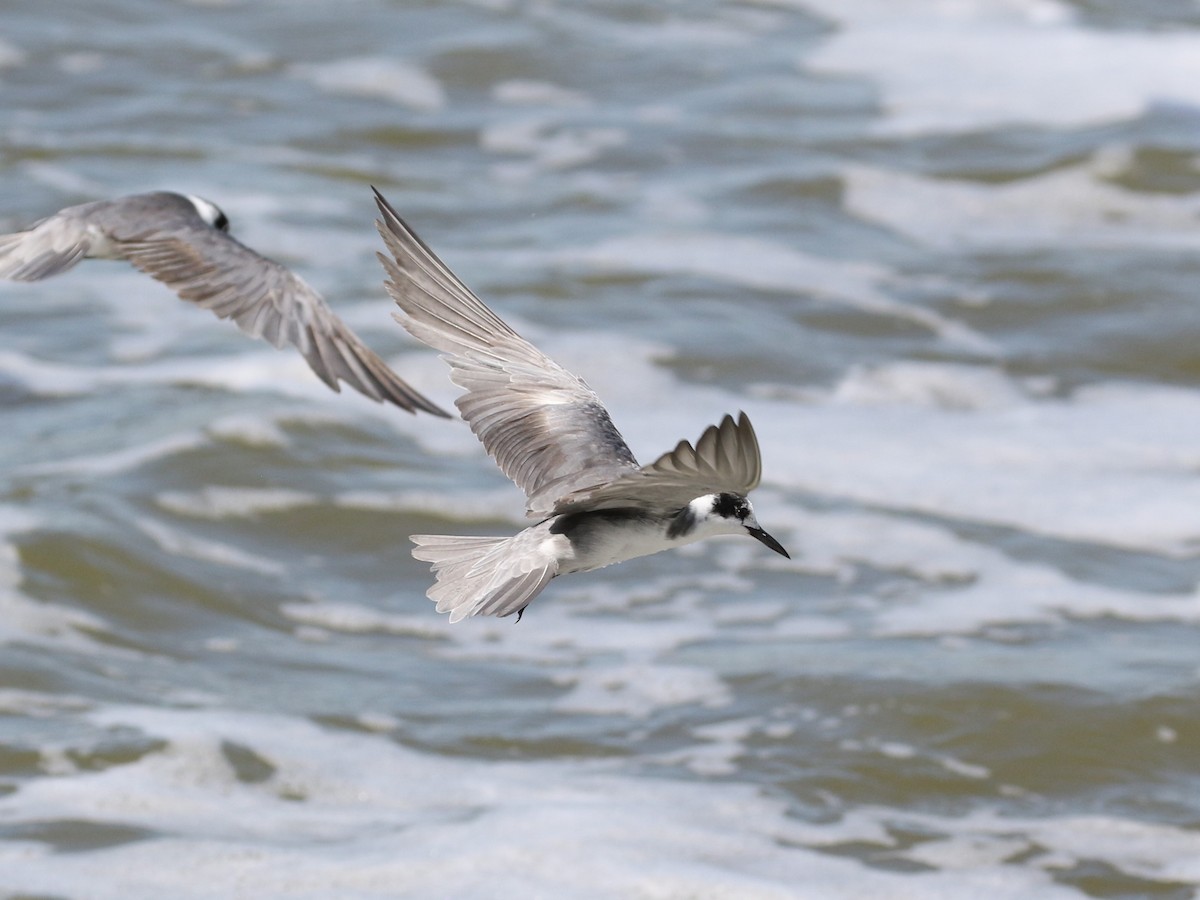
{"type": "MultiPolygon", "coordinates": [[[[1110,816],[859,808],[805,823],[746,785],[637,778],[611,763],[438,757],[385,734],[281,715],[126,707],[86,718],[163,746],[103,769],[47,773],[0,797],[0,815],[10,827],[91,822],[146,836],[56,853],[53,864],[47,845],[11,838],[0,845],[8,889],[100,900],[239,892],[1015,900],[1078,896],[1054,875],[1097,858],[1140,877],[1200,878],[1195,833],[1110,816]],[[229,745],[254,754],[265,778],[239,780],[229,745]],[[901,845],[895,829],[928,838],[901,845]],[[868,868],[822,852],[852,842],[922,869],[868,868]],[[1018,854],[1021,865],[1010,862],[1018,854]]],[[[757,727],[726,722],[702,734],[712,764],[719,769],[722,748],[732,752],[757,727]]]]}

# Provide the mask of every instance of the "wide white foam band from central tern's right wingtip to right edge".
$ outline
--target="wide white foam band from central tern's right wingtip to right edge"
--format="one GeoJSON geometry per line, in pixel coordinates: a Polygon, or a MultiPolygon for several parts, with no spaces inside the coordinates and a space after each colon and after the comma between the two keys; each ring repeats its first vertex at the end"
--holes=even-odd
{"type": "MultiPolygon", "coordinates": [[[[1200,547],[1195,392],[1111,384],[1067,400],[947,408],[941,397],[970,390],[954,386],[955,371],[930,392],[910,386],[908,366],[881,367],[870,415],[856,391],[838,389],[808,406],[744,404],[766,482],[1169,556],[1200,547]],[[880,402],[884,373],[893,403],[880,402]],[[914,404],[922,394],[929,406],[914,404]]],[[[920,379],[929,384],[928,368],[920,379]]]]}

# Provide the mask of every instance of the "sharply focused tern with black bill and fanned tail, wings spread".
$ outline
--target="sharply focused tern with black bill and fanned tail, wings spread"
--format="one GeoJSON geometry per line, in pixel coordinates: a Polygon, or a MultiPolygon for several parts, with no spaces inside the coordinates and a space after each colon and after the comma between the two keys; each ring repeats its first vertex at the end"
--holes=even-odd
{"type": "Polygon", "coordinates": [[[397,320],[445,354],[451,380],[467,389],[455,401],[463,419],[539,520],[511,538],[413,535],[413,556],[433,564],[438,612],[520,622],[557,575],[716,534],[748,534],[787,556],[746,497],[762,458],[745,413],[638,467],[595,392],[488,310],[378,191],[376,202],[397,320]]]}

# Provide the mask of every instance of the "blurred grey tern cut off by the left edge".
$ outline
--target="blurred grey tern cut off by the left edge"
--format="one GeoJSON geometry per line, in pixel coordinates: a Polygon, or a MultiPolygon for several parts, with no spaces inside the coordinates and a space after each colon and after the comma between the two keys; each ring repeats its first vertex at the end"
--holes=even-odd
{"type": "Polygon", "coordinates": [[[410,413],[449,416],[388,368],[299,276],[230,236],[224,212],[205,199],[158,191],[97,200],[0,235],[0,278],[40,281],[88,258],[127,259],[242,331],[292,344],[335,391],[342,380],[410,413]]]}

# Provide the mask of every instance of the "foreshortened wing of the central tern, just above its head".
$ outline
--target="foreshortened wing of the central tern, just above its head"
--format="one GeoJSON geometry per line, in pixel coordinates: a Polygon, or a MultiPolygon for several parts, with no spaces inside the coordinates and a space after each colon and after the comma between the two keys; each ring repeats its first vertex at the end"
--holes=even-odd
{"type": "Polygon", "coordinates": [[[610,484],[563,497],[556,514],[583,509],[673,509],[706,493],[743,497],[762,480],[758,438],[745,413],[737,421],[726,415],[709,425],[692,446],[680,440],[671,452],[649,466],[620,475],[610,484]]]}

